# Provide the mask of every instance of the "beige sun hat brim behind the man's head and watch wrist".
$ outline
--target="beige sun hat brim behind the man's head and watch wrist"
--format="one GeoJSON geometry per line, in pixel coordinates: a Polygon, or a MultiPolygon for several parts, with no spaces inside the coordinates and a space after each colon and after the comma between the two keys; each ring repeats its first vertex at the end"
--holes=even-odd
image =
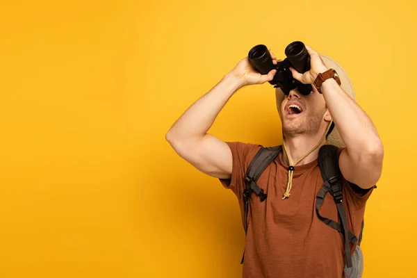
{"type": "MultiPolygon", "coordinates": [[[[325,65],[328,69],[336,70],[336,72],[339,76],[339,79],[341,79],[341,88],[342,88],[342,90],[347,95],[349,95],[352,99],[356,100],[352,83],[350,82],[349,76],[347,76],[347,73],[345,72],[345,70],[343,70],[341,65],[339,65],[335,60],[333,60],[332,58],[330,58],[328,56],[325,56],[325,55],[322,55],[322,54],[319,54],[319,56],[322,59],[323,63],[325,63],[325,65]]],[[[277,99],[277,108],[278,108],[279,117],[282,117],[282,115],[281,115],[281,104],[282,104],[282,101],[284,101],[284,98],[285,98],[284,92],[282,92],[282,90],[280,88],[276,88],[275,97],[277,99]]],[[[342,140],[340,134],[338,133],[337,126],[334,126],[334,129],[332,130],[332,132],[329,134],[329,136],[327,136],[326,144],[327,145],[336,145],[338,147],[345,147],[345,144],[343,143],[343,140],[342,140]]]]}

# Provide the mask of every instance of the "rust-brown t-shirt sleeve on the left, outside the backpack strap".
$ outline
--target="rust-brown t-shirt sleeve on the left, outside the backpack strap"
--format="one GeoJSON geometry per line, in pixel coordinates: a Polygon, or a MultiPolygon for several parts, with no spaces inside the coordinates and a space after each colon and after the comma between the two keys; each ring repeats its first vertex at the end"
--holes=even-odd
{"type": "Polygon", "coordinates": [[[250,161],[261,149],[261,145],[245,142],[226,142],[231,150],[233,166],[230,179],[220,179],[224,188],[232,190],[236,196],[241,197],[245,190],[245,173],[250,161]]]}

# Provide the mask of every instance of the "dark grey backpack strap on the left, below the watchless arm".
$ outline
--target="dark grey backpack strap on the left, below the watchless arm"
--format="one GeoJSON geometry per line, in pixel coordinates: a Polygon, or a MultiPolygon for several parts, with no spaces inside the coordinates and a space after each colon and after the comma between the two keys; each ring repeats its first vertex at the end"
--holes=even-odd
{"type": "MultiPolygon", "coordinates": [[[[279,152],[281,152],[281,149],[281,145],[277,147],[261,147],[247,168],[247,172],[245,174],[246,188],[243,191],[243,202],[245,204],[245,234],[247,234],[247,214],[250,209],[250,196],[252,193],[255,193],[261,198],[261,202],[265,201],[267,197],[267,195],[263,192],[263,189],[256,184],[256,181],[258,181],[265,168],[268,167],[268,165],[270,165],[270,163],[277,157],[279,152]]],[[[240,263],[243,263],[244,259],[245,252],[243,252],[242,261],[240,261],[240,263]]]]}

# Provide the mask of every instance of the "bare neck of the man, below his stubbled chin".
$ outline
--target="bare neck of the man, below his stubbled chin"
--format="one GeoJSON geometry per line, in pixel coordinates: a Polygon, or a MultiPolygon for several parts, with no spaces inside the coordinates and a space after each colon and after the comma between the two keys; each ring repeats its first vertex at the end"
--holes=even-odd
{"type": "MultiPolygon", "coordinates": [[[[309,153],[313,147],[316,147],[318,142],[322,140],[322,136],[321,132],[313,135],[285,136],[283,140],[285,140],[286,148],[283,148],[282,154],[282,161],[284,164],[290,165],[287,157],[288,155],[291,158],[291,164],[294,165],[295,162],[309,153]]],[[[323,139],[322,142],[320,142],[320,145],[313,152],[311,152],[311,154],[299,161],[297,165],[303,165],[314,161],[318,158],[318,150],[325,144],[326,140],[323,139]]]]}

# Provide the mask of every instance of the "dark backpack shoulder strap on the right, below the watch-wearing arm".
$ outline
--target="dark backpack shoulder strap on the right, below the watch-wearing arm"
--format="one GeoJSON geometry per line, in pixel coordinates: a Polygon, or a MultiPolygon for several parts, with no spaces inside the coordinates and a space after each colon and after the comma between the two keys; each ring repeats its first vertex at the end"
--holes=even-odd
{"type": "Polygon", "coordinates": [[[347,216],[345,207],[343,206],[343,195],[342,195],[342,181],[341,181],[341,171],[338,167],[338,156],[337,156],[338,147],[334,145],[323,145],[320,147],[318,152],[318,165],[320,167],[320,172],[322,174],[322,179],[324,184],[317,195],[316,199],[316,213],[318,218],[322,220],[325,224],[336,229],[339,233],[343,234],[345,239],[345,259],[347,268],[352,267],[352,258],[350,256],[350,245],[349,240],[352,243],[357,241],[357,237],[348,230],[347,228],[347,216]],[[341,219],[341,224],[330,220],[328,218],[322,217],[320,215],[320,206],[322,205],[326,193],[332,195],[334,202],[336,202],[336,207],[338,215],[341,219]]]}

